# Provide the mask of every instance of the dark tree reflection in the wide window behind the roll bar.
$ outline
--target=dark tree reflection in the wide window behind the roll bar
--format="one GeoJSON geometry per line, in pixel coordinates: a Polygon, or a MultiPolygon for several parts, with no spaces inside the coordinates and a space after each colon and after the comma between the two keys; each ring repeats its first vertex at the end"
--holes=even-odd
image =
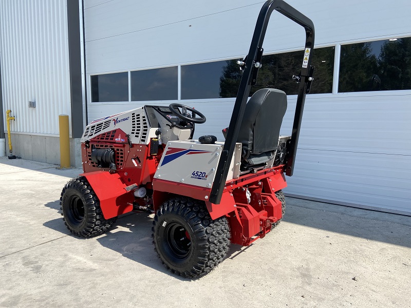
{"type": "MultiPolygon", "coordinates": [[[[250,96],[259,89],[276,88],[287,94],[298,93],[298,83],[292,75],[298,75],[303,63],[304,51],[264,55],[263,66],[258,71],[257,84],[251,87],[250,96]]],[[[227,61],[220,77],[220,97],[237,96],[241,73],[237,60],[227,61]]],[[[314,82],[310,93],[331,93],[334,70],[334,47],[314,49],[311,65],[315,66],[314,82]]]]}

